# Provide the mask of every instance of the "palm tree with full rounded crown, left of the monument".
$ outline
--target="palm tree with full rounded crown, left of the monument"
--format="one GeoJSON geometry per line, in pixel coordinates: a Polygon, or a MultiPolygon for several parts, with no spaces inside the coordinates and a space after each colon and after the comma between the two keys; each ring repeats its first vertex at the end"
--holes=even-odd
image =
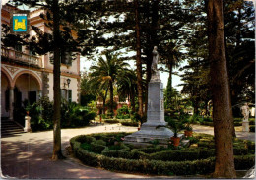
{"type": "Polygon", "coordinates": [[[118,58],[118,54],[110,52],[105,53],[105,59],[100,57],[96,66],[92,66],[90,70],[91,81],[98,85],[98,89],[108,87],[110,92],[110,113],[113,115],[113,87],[117,77],[122,71],[128,70],[129,64],[118,58]]]}

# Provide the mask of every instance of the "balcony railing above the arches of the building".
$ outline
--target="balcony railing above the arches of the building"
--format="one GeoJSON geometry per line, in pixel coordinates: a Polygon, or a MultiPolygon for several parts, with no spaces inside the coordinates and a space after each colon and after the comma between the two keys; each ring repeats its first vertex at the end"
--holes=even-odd
{"type": "Polygon", "coordinates": [[[1,47],[1,56],[6,57],[15,62],[20,62],[23,64],[42,67],[42,60],[40,57],[32,56],[29,54],[25,54],[23,52],[19,52],[13,49],[7,49],[5,47],[1,47]]]}

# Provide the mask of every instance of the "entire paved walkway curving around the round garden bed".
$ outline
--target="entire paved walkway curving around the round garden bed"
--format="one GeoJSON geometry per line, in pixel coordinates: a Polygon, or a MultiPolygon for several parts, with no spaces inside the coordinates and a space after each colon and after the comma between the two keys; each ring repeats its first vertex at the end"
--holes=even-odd
{"type": "MultiPolygon", "coordinates": [[[[194,126],[195,132],[213,134],[212,127],[194,126]]],[[[64,154],[69,146],[70,138],[97,132],[134,132],[135,127],[124,127],[117,124],[91,126],[80,129],[63,129],[62,149],[64,154]]],[[[240,133],[237,133],[239,137],[240,133]]],[[[68,157],[65,160],[52,161],[52,131],[26,133],[1,139],[1,167],[5,177],[16,178],[176,178],[175,176],[147,176],[140,174],[125,174],[110,172],[85,166],[79,160],[68,157]]],[[[240,138],[255,139],[254,133],[241,133],[240,138]]],[[[254,140],[255,141],[255,140],[254,140]]],[[[184,177],[183,177],[184,178],[184,177]]]]}

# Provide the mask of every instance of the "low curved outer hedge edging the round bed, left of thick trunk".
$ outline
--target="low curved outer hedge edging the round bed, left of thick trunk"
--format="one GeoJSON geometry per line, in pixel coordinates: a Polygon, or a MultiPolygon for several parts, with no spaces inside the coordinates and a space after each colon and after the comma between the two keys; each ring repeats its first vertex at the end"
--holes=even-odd
{"type": "Polygon", "coordinates": [[[80,143],[76,141],[76,138],[77,137],[74,137],[70,140],[71,147],[75,156],[78,157],[83,163],[93,167],[100,167],[107,170],[140,172],[159,175],[192,175],[197,173],[205,174],[211,173],[214,170],[214,158],[182,162],[113,158],[83,150],[80,147],[80,143]]]}

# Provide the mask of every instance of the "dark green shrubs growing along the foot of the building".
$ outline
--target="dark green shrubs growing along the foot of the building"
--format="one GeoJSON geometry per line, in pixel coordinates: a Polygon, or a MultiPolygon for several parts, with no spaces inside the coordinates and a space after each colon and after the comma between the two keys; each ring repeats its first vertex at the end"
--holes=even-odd
{"type": "MultiPolygon", "coordinates": [[[[90,120],[93,120],[96,117],[95,112],[82,109],[81,106],[77,105],[76,103],[62,101],[61,105],[62,127],[73,128],[87,126],[90,120]]],[[[24,125],[26,111],[29,111],[29,115],[31,116],[31,128],[33,132],[52,129],[53,103],[49,101],[49,98],[42,97],[32,105],[25,102],[25,106],[26,108],[20,107],[15,111],[17,113],[17,117],[19,116],[19,118],[23,120],[22,125],[24,125]]]]}

